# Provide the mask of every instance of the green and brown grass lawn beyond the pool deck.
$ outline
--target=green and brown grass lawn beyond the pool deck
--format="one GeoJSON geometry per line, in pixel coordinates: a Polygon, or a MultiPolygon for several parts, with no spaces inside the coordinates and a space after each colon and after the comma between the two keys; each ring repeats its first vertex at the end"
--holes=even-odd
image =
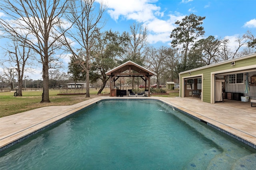
{"type": "MultiPolygon", "coordinates": [[[[73,105],[97,96],[98,90],[90,89],[90,98],[85,95],[57,95],[59,90],[50,90],[50,103],[40,103],[42,100],[42,91],[24,91],[22,97],[14,97],[14,92],[0,93],[0,117],[21,113],[24,111],[57,105],[73,105]]],[[[169,95],[160,95],[161,97],[178,96],[178,90],[168,91],[169,95]]],[[[104,90],[103,93],[109,93],[104,90]]],[[[152,95],[154,96],[154,95],[152,95]]],[[[158,95],[159,96],[159,95],[158,95]]]]}

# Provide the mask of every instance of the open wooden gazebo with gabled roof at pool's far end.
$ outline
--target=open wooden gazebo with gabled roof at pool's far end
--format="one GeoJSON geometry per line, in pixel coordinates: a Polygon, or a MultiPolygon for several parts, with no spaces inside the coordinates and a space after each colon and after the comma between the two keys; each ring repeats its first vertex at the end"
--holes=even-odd
{"type": "Polygon", "coordinates": [[[106,75],[110,76],[110,96],[114,97],[116,95],[116,89],[113,89],[115,86],[116,80],[119,77],[140,77],[145,82],[145,91],[147,90],[147,80],[148,80],[148,94],[150,94],[150,77],[155,75],[154,72],[148,70],[136,64],[132,61],[127,61],[116,68],[106,72],[106,75]]]}

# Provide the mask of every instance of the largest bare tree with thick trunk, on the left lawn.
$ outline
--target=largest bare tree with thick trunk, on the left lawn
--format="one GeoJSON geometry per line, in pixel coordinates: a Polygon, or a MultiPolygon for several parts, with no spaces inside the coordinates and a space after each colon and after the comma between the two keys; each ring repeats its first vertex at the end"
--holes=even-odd
{"type": "MultiPolygon", "coordinates": [[[[44,91],[42,102],[49,99],[50,64],[56,63],[54,58],[60,49],[58,39],[72,24],[64,22],[62,16],[66,10],[68,0],[1,0],[0,10],[8,18],[0,18],[0,31],[3,37],[15,37],[17,41],[35,51],[42,63],[42,78],[44,91]],[[65,25],[64,25],[65,24],[65,25]],[[65,31],[60,33],[60,27],[65,31]],[[28,35],[28,39],[26,36],[28,35]]],[[[62,30],[63,30],[62,29],[62,30]]]]}

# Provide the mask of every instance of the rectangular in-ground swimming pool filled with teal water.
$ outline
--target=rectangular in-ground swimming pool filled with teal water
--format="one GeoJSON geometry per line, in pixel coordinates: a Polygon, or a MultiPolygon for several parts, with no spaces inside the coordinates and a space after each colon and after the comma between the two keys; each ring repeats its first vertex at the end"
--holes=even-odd
{"type": "Polygon", "coordinates": [[[256,151],[156,100],[107,100],[1,152],[2,169],[252,169],[256,151]]]}

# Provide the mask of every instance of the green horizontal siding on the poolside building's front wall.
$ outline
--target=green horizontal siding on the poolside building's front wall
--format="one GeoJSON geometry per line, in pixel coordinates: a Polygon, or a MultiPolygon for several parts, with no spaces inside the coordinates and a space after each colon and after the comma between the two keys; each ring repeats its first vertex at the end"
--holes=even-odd
{"type": "MultiPolygon", "coordinates": [[[[254,65],[256,64],[256,54],[254,55],[254,57],[251,57],[248,59],[242,59],[235,62],[236,64],[234,66],[230,66],[230,63],[231,63],[230,61],[221,65],[202,68],[200,70],[195,70],[195,71],[190,70],[191,72],[190,75],[188,73],[180,74],[180,89],[182,89],[182,86],[183,86],[182,77],[203,74],[202,76],[203,102],[210,103],[211,102],[211,72],[222,71],[222,70],[223,72],[225,72],[224,70],[254,65]]],[[[182,96],[182,92],[183,90],[181,90],[181,96],[182,96]]]]}

